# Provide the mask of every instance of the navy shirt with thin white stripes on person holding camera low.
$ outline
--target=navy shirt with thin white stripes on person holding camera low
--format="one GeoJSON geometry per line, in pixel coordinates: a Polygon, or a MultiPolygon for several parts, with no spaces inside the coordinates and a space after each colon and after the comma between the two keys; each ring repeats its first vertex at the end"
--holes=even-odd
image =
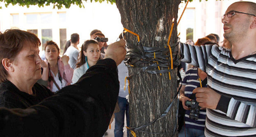
{"type": "MultiPolygon", "coordinates": [[[[199,81],[199,76],[197,75],[196,67],[187,70],[185,77],[182,81],[182,85],[185,85],[185,90],[184,90],[185,96],[192,99],[191,95],[193,90],[195,88],[200,87],[200,81],[199,81]]],[[[194,98],[194,100],[196,99],[194,98]]],[[[191,119],[189,115],[190,115],[190,110],[186,110],[185,111],[185,127],[204,130],[206,110],[205,109],[200,110],[199,118],[197,120],[191,119]]]]}

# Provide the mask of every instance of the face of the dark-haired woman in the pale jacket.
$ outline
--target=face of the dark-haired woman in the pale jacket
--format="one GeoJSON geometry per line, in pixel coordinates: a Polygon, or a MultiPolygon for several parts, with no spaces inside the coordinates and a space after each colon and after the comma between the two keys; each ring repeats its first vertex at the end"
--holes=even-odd
{"type": "Polygon", "coordinates": [[[87,56],[87,60],[91,62],[97,62],[100,58],[101,51],[98,44],[91,43],[88,45],[86,52],[83,51],[84,55],[87,56]]]}

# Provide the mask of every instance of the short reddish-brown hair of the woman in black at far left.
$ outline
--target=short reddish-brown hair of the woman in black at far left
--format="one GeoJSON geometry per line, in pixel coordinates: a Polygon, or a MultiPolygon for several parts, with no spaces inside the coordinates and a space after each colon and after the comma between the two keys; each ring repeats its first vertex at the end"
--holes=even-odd
{"type": "Polygon", "coordinates": [[[0,82],[4,82],[8,76],[2,60],[7,58],[15,60],[16,55],[21,51],[24,45],[31,44],[39,47],[41,42],[33,33],[19,29],[8,29],[4,33],[0,32],[0,82]]]}

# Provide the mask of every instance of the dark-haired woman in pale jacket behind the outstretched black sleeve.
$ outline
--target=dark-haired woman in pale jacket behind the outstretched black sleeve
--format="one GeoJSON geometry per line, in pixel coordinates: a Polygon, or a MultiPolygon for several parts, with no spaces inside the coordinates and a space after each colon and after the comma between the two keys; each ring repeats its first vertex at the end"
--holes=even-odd
{"type": "Polygon", "coordinates": [[[96,64],[100,59],[101,51],[96,40],[86,40],[82,44],[81,52],[78,57],[78,63],[73,73],[72,84],[76,83],[79,78],[85,74],[89,67],[96,64]]]}

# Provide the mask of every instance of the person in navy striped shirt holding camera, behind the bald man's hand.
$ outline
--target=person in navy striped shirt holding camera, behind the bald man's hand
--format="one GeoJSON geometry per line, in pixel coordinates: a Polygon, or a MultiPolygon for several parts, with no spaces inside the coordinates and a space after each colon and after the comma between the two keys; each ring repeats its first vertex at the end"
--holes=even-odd
{"type": "MultiPolygon", "coordinates": [[[[192,67],[186,71],[180,90],[180,101],[185,109],[185,124],[179,137],[204,137],[206,110],[200,109],[192,91],[201,87],[200,81],[202,84],[206,76],[206,73],[197,67],[192,67]]],[[[203,87],[207,87],[206,84],[203,87]]]]}

